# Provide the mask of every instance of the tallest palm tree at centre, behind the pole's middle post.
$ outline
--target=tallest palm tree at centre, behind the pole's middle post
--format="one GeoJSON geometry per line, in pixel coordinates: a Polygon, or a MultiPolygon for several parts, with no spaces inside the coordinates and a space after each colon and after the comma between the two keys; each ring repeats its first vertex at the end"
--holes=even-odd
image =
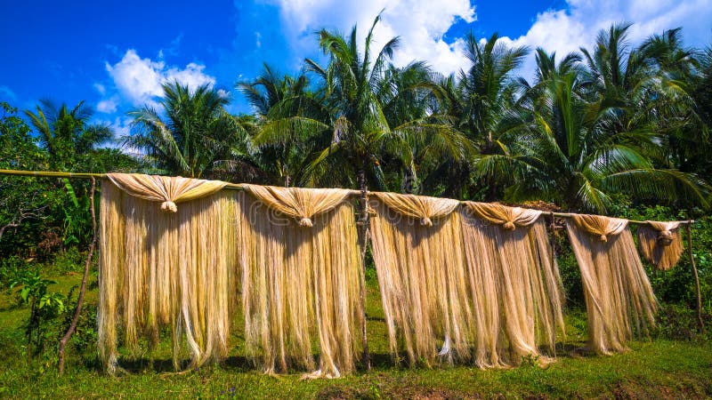
{"type": "Polygon", "coordinates": [[[398,48],[398,37],[387,41],[380,51],[371,52],[373,30],[379,20],[380,15],[368,30],[362,53],[355,26],[348,37],[322,29],[318,35],[321,50],[329,57],[328,66],[322,68],[313,60],[305,61],[308,70],[319,76],[322,83],[323,105],[320,113],[315,114],[325,116],[320,122],[326,128],[323,138],[328,142],[308,166],[307,178],[314,182],[336,178],[351,186],[355,177],[363,193],[368,182],[386,188],[382,162],[400,158],[412,166],[409,143],[428,137],[427,140],[447,143],[440,148],[453,150],[451,156],[461,156],[458,143],[464,140],[448,125],[430,121],[413,108],[402,107],[401,97],[420,96],[416,92],[428,84],[425,77],[430,74],[424,71],[422,63],[394,73],[388,61],[398,48]],[[372,54],[376,55],[373,60],[372,54]],[[404,75],[412,81],[399,85],[398,79],[404,75]],[[390,92],[385,90],[388,87],[390,92]]]}

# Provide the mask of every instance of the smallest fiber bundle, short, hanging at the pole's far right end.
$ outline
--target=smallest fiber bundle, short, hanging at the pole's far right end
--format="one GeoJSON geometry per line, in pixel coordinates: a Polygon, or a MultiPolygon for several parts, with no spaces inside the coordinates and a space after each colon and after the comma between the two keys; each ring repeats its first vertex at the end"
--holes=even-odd
{"type": "Polygon", "coordinates": [[[680,222],[646,220],[638,227],[638,242],[643,259],[653,267],[667,271],[676,266],[683,254],[680,222]]]}

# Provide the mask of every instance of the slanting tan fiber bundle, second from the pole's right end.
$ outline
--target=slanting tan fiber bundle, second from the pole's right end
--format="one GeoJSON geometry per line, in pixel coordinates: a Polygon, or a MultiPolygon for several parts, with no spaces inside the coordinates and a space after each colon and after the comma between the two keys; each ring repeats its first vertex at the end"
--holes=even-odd
{"type": "Polygon", "coordinates": [[[625,351],[634,333],[654,324],[656,309],[627,220],[576,214],[571,219],[567,230],[581,270],[589,347],[600,354],[625,351]]]}

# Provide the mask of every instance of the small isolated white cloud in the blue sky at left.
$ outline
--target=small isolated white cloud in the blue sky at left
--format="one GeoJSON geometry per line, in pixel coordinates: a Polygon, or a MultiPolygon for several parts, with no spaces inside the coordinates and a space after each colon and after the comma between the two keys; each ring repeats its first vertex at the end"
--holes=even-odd
{"type": "Polygon", "coordinates": [[[185,68],[166,68],[164,61],[153,61],[149,58],[142,59],[138,53],[130,49],[116,64],[106,63],[106,70],[116,85],[117,91],[135,107],[144,104],[156,105],[156,98],[163,95],[161,84],[174,80],[187,84],[190,89],[199,85],[215,84],[214,76],[206,75],[206,67],[194,62],[185,68]]]}

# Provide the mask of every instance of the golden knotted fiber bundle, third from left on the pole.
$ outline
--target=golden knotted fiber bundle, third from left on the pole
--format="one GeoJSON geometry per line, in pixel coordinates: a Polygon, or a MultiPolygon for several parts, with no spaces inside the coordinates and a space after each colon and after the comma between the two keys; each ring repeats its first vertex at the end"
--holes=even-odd
{"type": "Polygon", "coordinates": [[[458,202],[372,193],[371,242],[391,351],[411,364],[470,357],[458,202]],[[440,351],[438,350],[440,349],[440,351]]]}

